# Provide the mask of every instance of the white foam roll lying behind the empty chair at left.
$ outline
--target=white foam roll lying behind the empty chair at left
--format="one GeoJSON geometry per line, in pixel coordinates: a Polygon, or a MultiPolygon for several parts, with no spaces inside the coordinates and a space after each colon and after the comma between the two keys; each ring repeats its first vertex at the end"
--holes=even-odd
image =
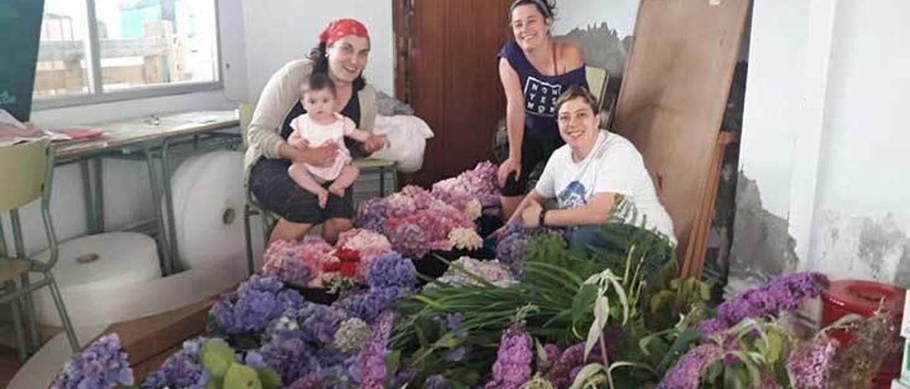
{"type": "MultiPolygon", "coordinates": [[[[80,311],[99,323],[116,321],[122,307],[109,304],[131,288],[161,277],[155,240],[144,234],[109,233],[76,238],[59,245],[52,270],[70,314],[80,311]]],[[[50,252],[37,258],[46,261],[50,252]]],[[[38,322],[60,325],[50,291],[35,294],[38,322]]]]}

